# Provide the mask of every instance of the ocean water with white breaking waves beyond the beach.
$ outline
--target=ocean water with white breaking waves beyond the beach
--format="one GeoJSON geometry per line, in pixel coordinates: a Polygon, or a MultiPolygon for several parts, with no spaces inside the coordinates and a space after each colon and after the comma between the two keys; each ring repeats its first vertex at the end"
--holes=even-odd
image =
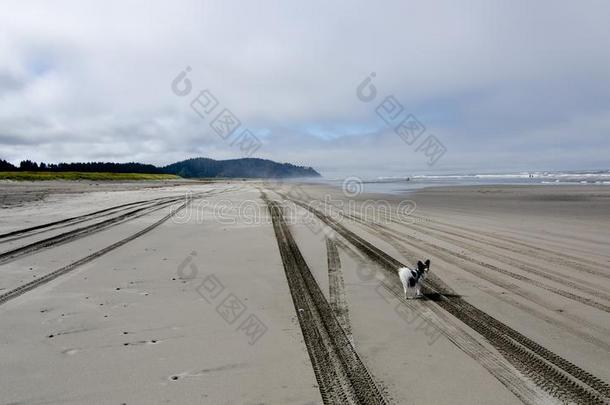
{"type": "Polygon", "coordinates": [[[610,185],[610,170],[570,172],[519,172],[499,174],[446,174],[412,177],[377,177],[319,179],[322,183],[343,187],[351,192],[401,194],[433,186],[459,185],[610,185]]]}

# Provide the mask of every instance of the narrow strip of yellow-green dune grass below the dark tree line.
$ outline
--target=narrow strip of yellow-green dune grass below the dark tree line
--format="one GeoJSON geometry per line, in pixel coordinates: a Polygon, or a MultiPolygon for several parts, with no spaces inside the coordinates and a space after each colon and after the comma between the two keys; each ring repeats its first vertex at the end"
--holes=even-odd
{"type": "Polygon", "coordinates": [[[100,173],[100,172],[0,172],[0,180],[175,180],[173,174],[100,173]]]}

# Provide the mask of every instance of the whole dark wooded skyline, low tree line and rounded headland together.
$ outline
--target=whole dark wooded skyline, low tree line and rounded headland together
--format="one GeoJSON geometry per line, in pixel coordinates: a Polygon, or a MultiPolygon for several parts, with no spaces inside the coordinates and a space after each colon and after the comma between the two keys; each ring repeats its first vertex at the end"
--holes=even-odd
{"type": "Polygon", "coordinates": [[[281,177],[319,177],[320,174],[311,167],[295,166],[290,163],[277,163],[271,160],[244,158],[231,160],[214,160],[194,158],[157,167],[142,163],[36,163],[24,160],[19,167],[0,160],[0,171],[44,171],[44,172],[108,172],[108,173],[150,173],[177,174],[181,177],[245,177],[245,178],[281,178],[281,177]]]}

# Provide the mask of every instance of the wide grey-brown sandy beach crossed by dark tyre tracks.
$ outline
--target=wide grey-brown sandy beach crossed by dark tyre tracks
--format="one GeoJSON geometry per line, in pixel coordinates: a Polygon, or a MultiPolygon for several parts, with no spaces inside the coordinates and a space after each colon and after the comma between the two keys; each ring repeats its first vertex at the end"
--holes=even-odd
{"type": "Polygon", "coordinates": [[[610,401],[608,187],[15,187],[2,404],[610,401]]]}

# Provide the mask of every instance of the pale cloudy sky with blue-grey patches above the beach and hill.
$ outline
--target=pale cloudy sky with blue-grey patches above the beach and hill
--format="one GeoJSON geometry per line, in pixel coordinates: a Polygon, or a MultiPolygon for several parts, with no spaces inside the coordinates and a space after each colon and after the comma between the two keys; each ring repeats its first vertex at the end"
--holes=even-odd
{"type": "Polygon", "coordinates": [[[5,0],[0,159],[609,169],[609,17],[608,1],[5,0]],[[219,134],[225,109],[239,127],[219,134]]]}

